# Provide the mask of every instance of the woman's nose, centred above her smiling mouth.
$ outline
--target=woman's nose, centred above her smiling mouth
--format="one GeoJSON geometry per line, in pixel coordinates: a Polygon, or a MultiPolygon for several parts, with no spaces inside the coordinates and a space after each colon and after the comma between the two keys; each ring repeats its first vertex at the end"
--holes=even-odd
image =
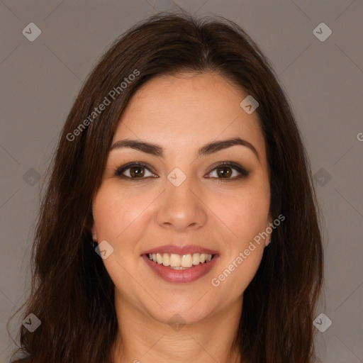
{"type": "Polygon", "coordinates": [[[167,180],[157,209],[157,223],[177,232],[196,230],[206,224],[207,209],[201,191],[191,178],[187,177],[179,186],[167,180]]]}

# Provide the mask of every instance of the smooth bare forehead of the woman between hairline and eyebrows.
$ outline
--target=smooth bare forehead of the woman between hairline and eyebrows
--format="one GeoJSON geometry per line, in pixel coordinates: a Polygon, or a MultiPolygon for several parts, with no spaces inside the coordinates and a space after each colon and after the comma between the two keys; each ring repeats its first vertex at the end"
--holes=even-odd
{"type": "Polygon", "coordinates": [[[240,107],[245,96],[216,73],[155,77],[131,97],[113,142],[140,138],[172,152],[238,136],[264,155],[257,112],[249,115],[240,107]]]}

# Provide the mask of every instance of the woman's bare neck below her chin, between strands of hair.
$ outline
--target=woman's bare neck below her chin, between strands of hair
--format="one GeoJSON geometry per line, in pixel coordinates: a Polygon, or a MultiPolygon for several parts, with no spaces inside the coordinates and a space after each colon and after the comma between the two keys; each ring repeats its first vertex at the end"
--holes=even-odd
{"type": "Polygon", "coordinates": [[[241,306],[242,297],[223,311],[173,328],[116,298],[118,337],[112,349],[112,362],[240,363],[242,357],[233,342],[241,306]]]}

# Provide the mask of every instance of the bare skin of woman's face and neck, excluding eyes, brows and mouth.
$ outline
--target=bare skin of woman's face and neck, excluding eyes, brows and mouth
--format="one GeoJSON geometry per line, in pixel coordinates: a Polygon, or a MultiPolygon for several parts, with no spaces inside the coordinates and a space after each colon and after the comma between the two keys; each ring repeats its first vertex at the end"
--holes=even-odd
{"type": "MultiPolygon", "coordinates": [[[[164,147],[165,156],[111,150],[93,200],[93,238],[113,247],[104,264],[115,284],[119,332],[114,362],[239,362],[232,342],[243,292],[269,238],[255,243],[256,249],[218,287],[211,279],[272,222],[264,138],[257,113],[248,115],[240,107],[245,96],[219,74],[183,73],[151,79],[125,108],[113,143],[140,139],[164,147]],[[259,160],[241,145],[196,158],[206,143],[235,137],[254,145],[259,160]],[[223,179],[215,169],[223,161],[237,162],[249,176],[223,179]],[[143,181],[114,175],[128,162],[150,165],[142,170],[143,181]],[[180,186],[167,179],[175,167],[186,175],[180,186]],[[170,283],[140,257],[145,250],[169,244],[203,246],[217,250],[219,258],[201,279],[170,283]],[[178,331],[168,324],[174,314],[186,324],[178,331]]],[[[239,174],[228,167],[225,171],[233,172],[231,178],[239,174]]],[[[123,174],[130,177],[130,169],[123,174]]]]}

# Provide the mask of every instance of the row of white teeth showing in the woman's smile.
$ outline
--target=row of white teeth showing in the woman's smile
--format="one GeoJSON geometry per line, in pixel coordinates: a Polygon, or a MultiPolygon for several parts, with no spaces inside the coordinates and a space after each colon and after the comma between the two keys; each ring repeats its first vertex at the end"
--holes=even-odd
{"type": "Polygon", "coordinates": [[[194,253],[193,255],[176,255],[174,253],[150,253],[149,259],[157,264],[163,264],[164,266],[170,266],[172,269],[189,269],[197,264],[209,262],[212,259],[212,255],[207,253],[194,253]]]}

